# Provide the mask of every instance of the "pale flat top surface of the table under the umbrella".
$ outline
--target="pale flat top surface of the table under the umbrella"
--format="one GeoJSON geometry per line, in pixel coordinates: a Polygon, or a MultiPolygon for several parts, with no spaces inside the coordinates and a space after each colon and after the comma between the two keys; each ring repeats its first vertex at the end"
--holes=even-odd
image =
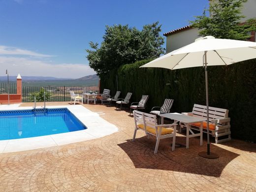
{"type": "Polygon", "coordinates": [[[169,118],[172,120],[177,120],[183,123],[195,123],[195,122],[206,121],[206,119],[204,118],[192,117],[192,116],[184,115],[180,113],[164,113],[164,114],[159,114],[159,116],[164,118],[169,118]]]}

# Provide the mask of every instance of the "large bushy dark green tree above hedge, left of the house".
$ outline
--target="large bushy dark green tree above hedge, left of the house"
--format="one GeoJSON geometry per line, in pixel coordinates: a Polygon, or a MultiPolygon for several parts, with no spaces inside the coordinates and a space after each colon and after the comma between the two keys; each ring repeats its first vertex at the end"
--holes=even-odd
{"type": "Polygon", "coordinates": [[[91,50],[86,50],[90,67],[101,76],[122,64],[159,57],[164,53],[160,28],[158,22],[143,26],[142,31],[128,25],[106,26],[100,47],[90,42],[91,50]]]}

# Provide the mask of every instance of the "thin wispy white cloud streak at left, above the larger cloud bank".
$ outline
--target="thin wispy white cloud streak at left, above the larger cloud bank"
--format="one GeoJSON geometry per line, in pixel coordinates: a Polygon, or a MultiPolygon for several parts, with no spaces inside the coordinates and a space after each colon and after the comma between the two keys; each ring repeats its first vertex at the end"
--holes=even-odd
{"type": "Polygon", "coordinates": [[[40,53],[35,53],[26,49],[19,49],[17,47],[8,47],[0,45],[0,55],[24,55],[24,56],[34,56],[34,57],[54,57],[53,55],[44,55],[40,53]]]}

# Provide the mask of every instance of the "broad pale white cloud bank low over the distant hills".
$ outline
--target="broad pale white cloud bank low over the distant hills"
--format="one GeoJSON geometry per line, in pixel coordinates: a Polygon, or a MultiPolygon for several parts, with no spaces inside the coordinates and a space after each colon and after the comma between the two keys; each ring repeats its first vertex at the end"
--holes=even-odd
{"type": "Polygon", "coordinates": [[[80,78],[96,72],[86,64],[52,64],[32,58],[0,57],[0,76],[50,76],[59,78],[80,78]],[[2,71],[1,71],[2,70],[2,71]]]}

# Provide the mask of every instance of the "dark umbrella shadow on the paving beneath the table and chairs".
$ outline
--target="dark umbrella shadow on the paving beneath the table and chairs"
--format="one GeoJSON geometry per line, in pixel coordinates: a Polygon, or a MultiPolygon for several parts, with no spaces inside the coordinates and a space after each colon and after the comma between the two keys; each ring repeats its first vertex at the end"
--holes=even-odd
{"type": "MultiPolygon", "coordinates": [[[[147,136],[131,139],[120,143],[118,146],[123,149],[135,168],[159,169],[167,171],[178,171],[220,177],[225,166],[239,154],[230,152],[216,145],[211,145],[211,151],[220,155],[219,159],[209,160],[198,156],[198,152],[206,150],[206,143],[199,146],[199,139],[190,139],[190,148],[175,148],[171,151],[170,138],[161,139],[158,154],[154,154],[156,145],[155,138],[147,136]]],[[[176,136],[176,143],[186,145],[186,137],[176,136]]]]}

